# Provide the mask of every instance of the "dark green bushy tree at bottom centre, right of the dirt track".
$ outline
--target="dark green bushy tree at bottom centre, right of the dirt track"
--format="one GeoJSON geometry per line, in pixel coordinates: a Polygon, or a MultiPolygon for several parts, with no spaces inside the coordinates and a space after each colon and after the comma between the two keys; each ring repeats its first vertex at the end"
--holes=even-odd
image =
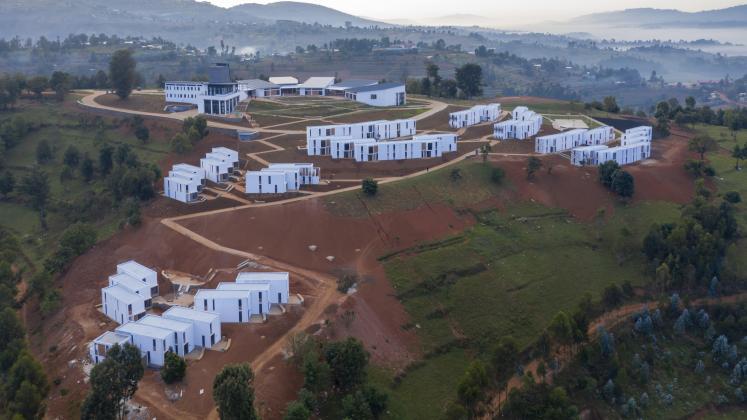
{"type": "Polygon", "coordinates": [[[344,391],[365,381],[368,357],[363,344],[352,337],[327,343],[324,347],[324,359],[332,370],[332,381],[344,391]]]}

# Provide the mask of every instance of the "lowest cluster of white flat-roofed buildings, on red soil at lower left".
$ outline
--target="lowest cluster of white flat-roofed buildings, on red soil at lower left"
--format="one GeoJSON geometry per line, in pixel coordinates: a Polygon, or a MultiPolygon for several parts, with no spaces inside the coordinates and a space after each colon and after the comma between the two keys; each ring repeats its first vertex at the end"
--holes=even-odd
{"type": "Polygon", "coordinates": [[[149,366],[164,364],[172,351],[184,357],[196,347],[210,348],[221,340],[221,323],[266,319],[272,306],[288,303],[289,276],[285,272],[243,272],[235,282],[216,289],[200,289],[192,308],[172,306],[163,314],[147,314],[158,294],[157,273],[134,261],[117,266],[109,286],[101,290],[102,310],[120,325],[89,344],[94,363],[106,358],[115,344],[130,343],[149,366]]]}

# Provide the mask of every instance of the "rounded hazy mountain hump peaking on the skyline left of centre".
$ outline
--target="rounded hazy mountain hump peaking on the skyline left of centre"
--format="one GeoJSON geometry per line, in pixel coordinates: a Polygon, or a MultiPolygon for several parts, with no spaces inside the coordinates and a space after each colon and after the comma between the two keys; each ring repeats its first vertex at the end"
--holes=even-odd
{"type": "Polygon", "coordinates": [[[388,26],[383,22],[360,18],[329,7],[295,1],[279,1],[269,4],[246,3],[234,6],[228,11],[264,20],[292,20],[332,26],[345,26],[347,22],[353,26],[388,26]]]}

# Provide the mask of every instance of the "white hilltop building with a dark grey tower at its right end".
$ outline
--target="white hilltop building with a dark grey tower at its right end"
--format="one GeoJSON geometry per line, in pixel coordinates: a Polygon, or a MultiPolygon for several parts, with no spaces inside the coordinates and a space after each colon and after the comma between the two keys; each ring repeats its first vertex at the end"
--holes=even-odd
{"type": "Polygon", "coordinates": [[[196,105],[199,113],[209,115],[231,114],[241,99],[238,84],[231,80],[225,63],[208,69],[207,82],[166,82],[164,95],[167,103],[196,105]]]}

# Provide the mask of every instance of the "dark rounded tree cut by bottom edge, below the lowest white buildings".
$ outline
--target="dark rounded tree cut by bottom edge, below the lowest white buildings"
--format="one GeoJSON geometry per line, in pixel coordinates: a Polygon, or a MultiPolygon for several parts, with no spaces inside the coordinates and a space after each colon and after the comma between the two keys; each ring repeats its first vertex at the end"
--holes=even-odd
{"type": "Polygon", "coordinates": [[[213,380],[213,400],[221,420],[258,419],[254,409],[254,374],[248,364],[226,365],[213,380]]]}

